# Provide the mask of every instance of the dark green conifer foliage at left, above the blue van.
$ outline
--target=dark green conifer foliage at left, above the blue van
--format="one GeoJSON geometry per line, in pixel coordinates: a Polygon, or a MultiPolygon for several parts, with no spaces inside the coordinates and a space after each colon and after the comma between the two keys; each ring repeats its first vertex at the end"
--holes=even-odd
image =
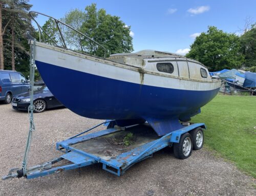
{"type": "Polygon", "coordinates": [[[30,47],[25,33],[30,31],[35,35],[31,25],[31,18],[28,11],[32,5],[28,0],[5,1],[3,5],[3,27],[6,26],[4,39],[4,65],[6,70],[11,70],[11,29],[14,29],[14,58],[16,71],[22,72],[26,77],[29,73],[30,47]],[[9,23],[8,23],[9,22],[9,23]]]}

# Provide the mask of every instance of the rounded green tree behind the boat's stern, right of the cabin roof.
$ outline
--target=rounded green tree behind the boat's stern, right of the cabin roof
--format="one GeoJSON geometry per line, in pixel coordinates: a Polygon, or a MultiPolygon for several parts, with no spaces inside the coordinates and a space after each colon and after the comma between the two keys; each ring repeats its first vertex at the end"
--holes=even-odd
{"type": "Polygon", "coordinates": [[[213,26],[196,38],[186,57],[202,62],[210,71],[239,68],[244,59],[239,37],[213,26]]]}

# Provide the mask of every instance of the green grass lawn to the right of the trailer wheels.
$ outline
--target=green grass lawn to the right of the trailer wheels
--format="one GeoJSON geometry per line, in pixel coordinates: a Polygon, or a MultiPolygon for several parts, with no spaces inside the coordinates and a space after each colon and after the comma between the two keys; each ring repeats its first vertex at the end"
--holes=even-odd
{"type": "Polygon", "coordinates": [[[206,146],[256,178],[256,96],[218,95],[192,122],[206,124],[206,146]]]}

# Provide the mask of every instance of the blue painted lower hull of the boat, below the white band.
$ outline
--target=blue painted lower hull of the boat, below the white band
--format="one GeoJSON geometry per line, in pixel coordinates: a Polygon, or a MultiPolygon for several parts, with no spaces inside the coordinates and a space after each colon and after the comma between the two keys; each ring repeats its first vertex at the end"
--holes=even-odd
{"type": "Polygon", "coordinates": [[[53,95],[74,113],[94,119],[189,118],[219,89],[188,91],[125,82],[36,61],[53,95]]]}

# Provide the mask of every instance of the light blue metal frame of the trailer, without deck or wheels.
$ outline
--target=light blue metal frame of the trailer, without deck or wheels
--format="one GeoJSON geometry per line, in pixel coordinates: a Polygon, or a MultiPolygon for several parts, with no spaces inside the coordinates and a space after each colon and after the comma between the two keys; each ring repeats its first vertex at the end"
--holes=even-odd
{"type": "MultiPolygon", "coordinates": [[[[37,177],[50,175],[52,173],[56,173],[60,171],[71,170],[75,168],[92,165],[95,163],[101,163],[102,169],[109,171],[114,175],[121,176],[127,169],[129,169],[135,163],[152,157],[153,153],[155,153],[156,151],[166,146],[172,146],[173,143],[179,143],[180,138],[183,134],[188,133],[191,130],[194,130],[198,127],[206,129],[206,126],[204,123],[195,123],[195,124],[183,126],[178,130],[175,130],[171,133],[168,133],[160,137],[159,139],[156,139],[148,143],[145,143],[143,145],[140,145],[138,147],[135,147],[129,151],[126,151],[125,153],[122,153],[108,160],[103,159],[102,157],[96,156],[94,154],[88,153],[85,150],[78,149],[73,145],[82,143],[85,141],[89,141],[95,138],[99,138],[102,136],[106,136],[109,134],[113,134],[116,132],[120,132],[121,130],[124,130],[125,127],[116,126],[114,128],[108,128],[108,129],[100,130],[95,133],[81,136],[82,134],[93,129],[91,128],[70,139],[57,142],[56,149],[60,150],[64,154],[52,161],[27,168],[25,178],[33,179],[37,177]],[[54,167],[55,163],[58,163],[62,160],[68,160],[71,162],[71,164],[54,167]]],[[[17,168],[11,169],[9,171],[8,176],[3,177],[3,179],[14,178],[14,177],[18,177],[18,178],[23,177],[22,170],[18,170],[17,168]]]]}

